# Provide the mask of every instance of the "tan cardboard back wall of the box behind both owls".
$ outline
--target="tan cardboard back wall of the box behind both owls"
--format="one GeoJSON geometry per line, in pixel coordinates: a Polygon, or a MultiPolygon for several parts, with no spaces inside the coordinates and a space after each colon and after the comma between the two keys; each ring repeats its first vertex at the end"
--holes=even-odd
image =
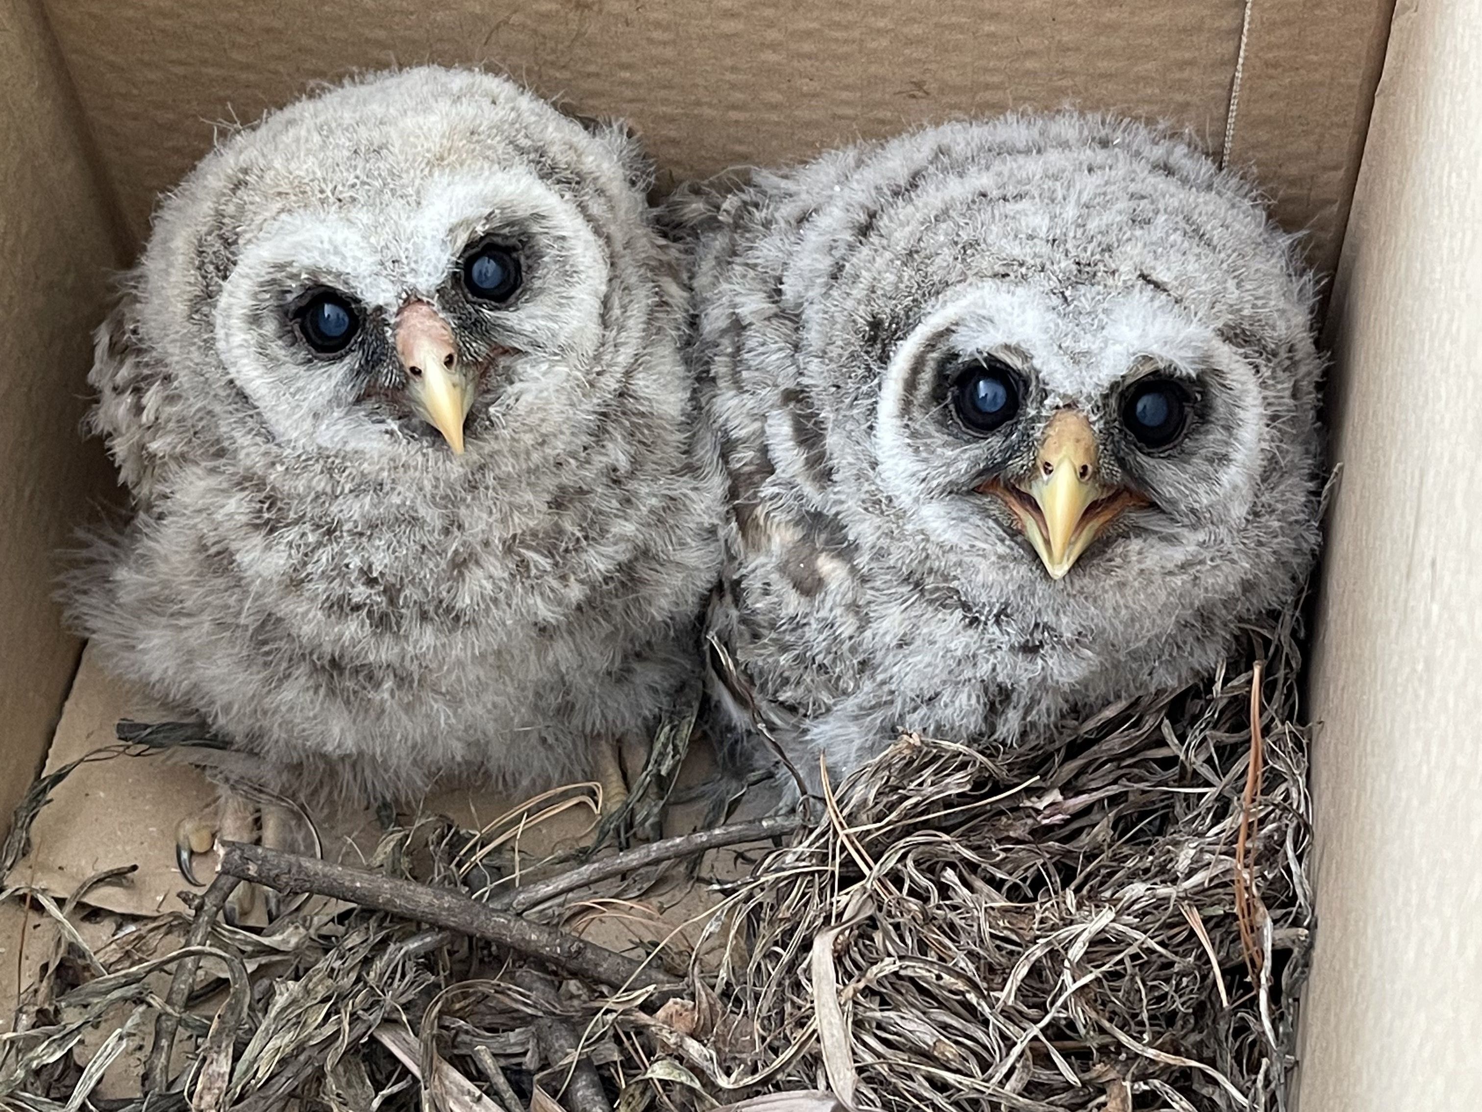
{"type": "MultiPolygon", "coordinates": [[[[1335,257],[1393,0],[1255,0],[1237,162],[1335,257]]],[[[129,233],[212,141],[319,79],[505,68],[624,114],[670,179],[1015,107],[1113,110],[1218,151],[1245,0],[47,0],[129,233]]]]}

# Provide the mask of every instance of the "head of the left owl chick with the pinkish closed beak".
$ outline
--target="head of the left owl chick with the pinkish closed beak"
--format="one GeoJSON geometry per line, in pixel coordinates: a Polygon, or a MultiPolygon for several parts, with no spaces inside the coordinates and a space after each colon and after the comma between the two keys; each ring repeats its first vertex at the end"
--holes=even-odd
{"type": "Polygon", "coordinates": [[[163,202],[135,338],[227,440],[446,467],[511,427],[579,439],[652,301],[634,283],[668,265],[646,178],[622,129],[501,77],[359,80],[233,133],[163,202]]]}

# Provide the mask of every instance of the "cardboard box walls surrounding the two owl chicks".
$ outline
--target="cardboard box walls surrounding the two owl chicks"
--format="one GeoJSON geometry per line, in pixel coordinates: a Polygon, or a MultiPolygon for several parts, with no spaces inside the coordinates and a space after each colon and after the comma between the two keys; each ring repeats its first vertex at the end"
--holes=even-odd
{"type": "MultiPolygon", "coordinates": [[[[1315,617],[1322,933],[1304,1109],[1482,1108],[1482,6],[1403,0],[1393,42],[1390,9],[0,0],[0,813],[46,761],[79,660],[55,552],[117,497],[77,434],[89,332],[154,194],[213,122],[356,68],[482,62],[630,117],[674,182],[1011,107],[1159,117],[1254,166],[1338,274],[1346,473],[1315,617]]],[[[79,715],[99,698],[92,675],[79,715]]]]}

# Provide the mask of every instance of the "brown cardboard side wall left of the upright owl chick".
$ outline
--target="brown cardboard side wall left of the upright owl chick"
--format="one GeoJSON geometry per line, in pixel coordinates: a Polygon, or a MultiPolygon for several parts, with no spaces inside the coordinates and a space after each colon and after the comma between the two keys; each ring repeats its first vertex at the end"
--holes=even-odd
{"type": "Polygon", "coordinates": [[[114,230],[39,6],[0,3],[0,827],[41,765],[77,643],[55,549],[111,488],[77,434],[114,230]]]}

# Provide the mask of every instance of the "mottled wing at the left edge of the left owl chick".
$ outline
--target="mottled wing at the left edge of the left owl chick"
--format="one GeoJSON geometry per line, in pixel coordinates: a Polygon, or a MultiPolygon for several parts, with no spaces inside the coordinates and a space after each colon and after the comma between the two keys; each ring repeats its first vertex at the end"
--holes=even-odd
{"type": "Polygon", "coordinates": [[[120,480],[135,504],[148,509],[169,458],[179,451],[179,437],[172,436],[165,420],[175,384],[139,335],[138,298],[132,286],[124,288],[119,304],[93,334],[93,366],[87,381],[98,391],[98,402],[87,414],[87,430],[104,437],[120,480]]]}

